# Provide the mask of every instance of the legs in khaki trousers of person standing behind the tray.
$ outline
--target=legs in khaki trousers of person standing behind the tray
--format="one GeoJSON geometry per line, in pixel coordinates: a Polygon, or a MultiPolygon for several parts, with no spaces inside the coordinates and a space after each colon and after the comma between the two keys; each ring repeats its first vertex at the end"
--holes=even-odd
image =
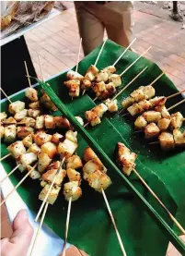
{"type": "Polygon", "coordinates": [[[115,43],[124,47],[131,43],[132,1],[75,1],[75,12],[85,55],[102,43],[105,30],[115,43]]]}

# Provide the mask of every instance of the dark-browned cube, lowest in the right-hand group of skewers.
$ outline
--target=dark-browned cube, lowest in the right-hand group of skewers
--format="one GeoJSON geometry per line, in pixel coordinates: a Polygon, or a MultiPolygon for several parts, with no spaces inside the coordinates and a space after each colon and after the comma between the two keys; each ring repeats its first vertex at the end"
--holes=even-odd
{"type": "Polygon", "coordinates": [[[169,132],[162,132],[158,137],[161,149],[164,151],[172,150],[175,148],[175,140],[173,135],[169,132]]]}

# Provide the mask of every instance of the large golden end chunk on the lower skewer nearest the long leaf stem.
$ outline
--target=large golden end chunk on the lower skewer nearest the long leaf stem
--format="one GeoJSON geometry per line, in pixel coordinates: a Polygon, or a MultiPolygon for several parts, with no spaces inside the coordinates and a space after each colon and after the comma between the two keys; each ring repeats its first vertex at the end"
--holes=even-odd
{"type": "Polygon", "coordinates": [[[102,189],[107,189],[111,185],[110,177],[99,170],[96,170],[89,174],[89,176],[87,177],[87,181],[89,186],[98,192],[101,192],[102,189]]]}

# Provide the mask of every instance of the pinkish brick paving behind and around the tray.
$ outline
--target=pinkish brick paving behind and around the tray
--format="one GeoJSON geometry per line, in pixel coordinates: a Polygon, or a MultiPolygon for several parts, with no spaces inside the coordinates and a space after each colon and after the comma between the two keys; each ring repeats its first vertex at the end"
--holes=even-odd
{"type": "MultiPolygon", "coordinates": [[[[40,55],[44,79],[75,66],[79,35],[74,5],[67,2],[66,6],[68,9],[61,15],[29,31],[25,37],[34,67],[41,77],[38,54],[40,55]]],[[[134,50],[143,53],[147,47],[153,45],[146,57],[165,70],[179,90],[185,89],[185,30],[181,29],[182,23],[172,21],[168,9],[141,2],[135,2],[134,19],[133,33],[138,39],[134,43],[134,50]]],[[[1,214],[2,238],[9,237],[11,227],[5,207],[1,214]]],[[[185,241],[185,237],[183,239],[185,241]]],[[[66,254],[80,255],[85,254],[80,254],[75,248],[71,248],[66,254]]],[[[167,255],[180,254],[169,245],[167,255]]]]}

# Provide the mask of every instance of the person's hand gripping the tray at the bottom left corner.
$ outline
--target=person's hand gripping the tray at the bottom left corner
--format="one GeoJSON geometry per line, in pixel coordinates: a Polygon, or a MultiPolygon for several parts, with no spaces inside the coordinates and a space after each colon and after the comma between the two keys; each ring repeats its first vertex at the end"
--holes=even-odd
{"type": "Polygon", "coordinates": [[[33,236],[33,228],[29,224],[26,210],[17,213],[12,228],[11,238],[1,240],[1,256],[26,256],[33,236]]]}

